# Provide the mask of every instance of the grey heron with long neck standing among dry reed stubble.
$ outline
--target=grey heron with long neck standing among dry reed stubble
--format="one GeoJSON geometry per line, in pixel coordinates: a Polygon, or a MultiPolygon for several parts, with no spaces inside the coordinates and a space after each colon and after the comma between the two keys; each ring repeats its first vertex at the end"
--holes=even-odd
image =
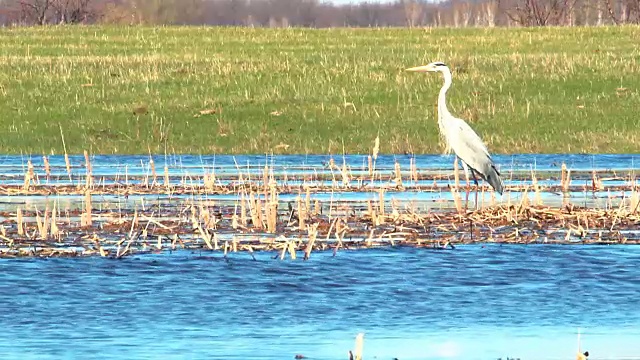
{"type": "MultiPolygon", "coordinates": [[[[440,129],[440,136],[445,142],[445,153],[451,153],[453,150],[456,155],[455,161],[462,160],[462,167],[467,179],[467,202],[470,191],[469,171],[476,186],[478,186],[478,178],[476,177],[478,175],[502,195],[504,183],[500,178],[500,172],[491,159],[487,146],[469,124],[451,115],[449,109],[447,109],[447,90],[449,90],[452,83],[449,67],[443,62],[436,61],[428,65],[412,67],[406,69],[406,71],[441,72],[444,77],[444,85],[440,89],[440,95],[438,96],[438,128],[440,129]]],[[[476,192],[477,206],[478,193],[476,192]]]]}

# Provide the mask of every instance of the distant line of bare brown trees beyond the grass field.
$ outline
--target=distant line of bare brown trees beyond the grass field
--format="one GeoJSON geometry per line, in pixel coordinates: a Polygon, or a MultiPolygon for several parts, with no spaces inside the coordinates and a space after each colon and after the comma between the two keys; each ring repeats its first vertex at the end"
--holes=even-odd
{"type": "Polygon", "coordinates": [[[0,25],[493,27],[640,23],[640,0],[0,0],[0,25]]]}

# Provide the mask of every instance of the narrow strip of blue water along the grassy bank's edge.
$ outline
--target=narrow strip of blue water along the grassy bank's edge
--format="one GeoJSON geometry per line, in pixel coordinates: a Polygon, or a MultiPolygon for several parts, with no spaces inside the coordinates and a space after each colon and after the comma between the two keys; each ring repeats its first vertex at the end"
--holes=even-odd
{"type": "MultiPolygon", "coordinates": [[[[397,161],[403,170],[409,169],[410,159],[415,159],[419,170],[449,170],[453,166],[452,155],[380,155],[376,161],[377,170],[393,170],[397,161]]],[[[238,169],[262,174],[265,164],[273,166],[275,171],[285,169],[295,175],[309,171],[328,171],[326,166],[330,159],[335,165],[343,162],[353,170],[367,168],[367,155],[92,155],[91,162],[94,176],[150,174],[149,159],[153,159],[159,177],[164,174],[164,166],[168,166],[170,175],[192,176],[216,170],[218,174],[236,175],[238,169]]],[[[576,170],[629,170],[640,168],[640,156],[636,154],[515,154],[494,155],[494,161],[503,173],[510,171],[558,171],[564,162],[568,168],[576,170]]],[[[42,170],[41,155],[0,155],[0,175],[23,176],[27,169],[27,161],[31,160],[36,168],[42,170]]],[[[69,156],[73,173],[84,174],[85,159],[82,155],[69,156]]],[[[51,173],[55,176],[66,176],[65,161],[62,155],[49,157],[51,173]]],[[[42,171],[41,171],[42,172],[42,171]]]]}

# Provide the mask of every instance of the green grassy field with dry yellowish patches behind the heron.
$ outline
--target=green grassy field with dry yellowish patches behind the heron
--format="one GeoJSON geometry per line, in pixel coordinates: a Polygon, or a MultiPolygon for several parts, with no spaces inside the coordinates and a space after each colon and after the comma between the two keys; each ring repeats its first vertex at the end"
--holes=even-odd
{"type": "Polygon", "coordinates": [[[0,153],[439,153],[449,108],[493,153],[640,149],[640,27],[0,30],[0,153]],[[146,108],[146,112],[139,109],[146,108]],[[139,111],[136,111],[138,109],[139,111]],[[194,117],[200,110],[215,114],[194,117]],[[137,113],[136,113],[137,112],[137,113]]]}

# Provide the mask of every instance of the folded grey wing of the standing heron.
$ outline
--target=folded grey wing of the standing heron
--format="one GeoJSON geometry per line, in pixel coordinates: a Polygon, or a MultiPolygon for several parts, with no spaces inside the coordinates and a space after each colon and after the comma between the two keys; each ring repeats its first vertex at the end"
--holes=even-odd
{"type": "Polygon", "coordinates": [[[482,139],[462,119],[452,119],[448,125],[447,135],[456,155],[502,194],[504,184],[482,139]]]}

